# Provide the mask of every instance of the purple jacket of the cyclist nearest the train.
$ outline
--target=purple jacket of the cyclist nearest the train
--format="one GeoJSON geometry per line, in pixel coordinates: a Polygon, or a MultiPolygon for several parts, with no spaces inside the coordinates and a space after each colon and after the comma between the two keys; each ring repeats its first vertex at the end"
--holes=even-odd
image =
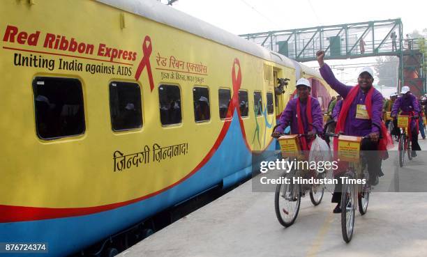
{"type": "MultiPolygon", "coordinates": [[[[320,109],[319,101],[312,96],[311,98],[311,116],[313,116],[313,132],[321,133],[323,131],[323,115],[322,109],[320,109]]],[[[282,112],[279,118],[280,125],[276,127],[275,132],[283,133],[285,127],[291,126],[291,134],[299,134],[298,132],[298,120],[297,120],[297,99],[292,99],[287,102],[285,110],[282,112]]],[[[304,133],[308,131],[308,119],[307,119],[307,103],[301,102],[301,120],[304,126],[304,133]]]]}

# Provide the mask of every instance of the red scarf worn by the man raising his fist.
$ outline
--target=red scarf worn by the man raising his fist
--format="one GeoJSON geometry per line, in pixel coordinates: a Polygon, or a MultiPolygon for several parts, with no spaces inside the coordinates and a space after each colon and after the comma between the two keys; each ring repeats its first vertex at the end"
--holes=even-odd
{"type": "MultiPolygon", "coordinates": [[[[338,122],[336,123],[335,133],[343,132],[345,127],[345,120],[347,119],[348,111],[350,110],[350,106],[357,94],[359,93],[360,87],[359,84],[354,86],[350,92],[347,94],[347,98],[343,102],[343,106],[341,107],[340,115],[338,116],[338,122]]],[[[368,91],[368,95],[366,95],[366,111],[368,111],[368,116],[372,120],[372,95],[374,88],[370,87],[368,91]]],[[[391,139],[391,135],[385,126],[384,120],[381,121],[381,134],[382,139],[378,142],[378,150],[387,150],[393,147],[393,139],[391,139]]],[[[334,149],[338,149],[338,139],[334,138],[334,149]]]]}

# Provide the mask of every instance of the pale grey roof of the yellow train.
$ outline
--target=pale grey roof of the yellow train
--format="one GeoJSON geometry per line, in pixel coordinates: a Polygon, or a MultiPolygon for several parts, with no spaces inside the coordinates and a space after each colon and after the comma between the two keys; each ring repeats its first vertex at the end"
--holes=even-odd
{"type": "Polygon", "coordinates": [[[252,54],[268,61],[284,65],[289,68],[295,68],[291,59],[271,52],[264,47],[249,42],[244,38],[234,35],[223,29],[219,29],[212,24],[204,22],[156,0],[96,0],[100,3],[105,3],[109,6],[126,10],[129,13],[146,17],[167,26],[172,26],[189,33],[193,33],[202,38],[213,40],[222,45],[232,47],[234,49],[252,54]]]}

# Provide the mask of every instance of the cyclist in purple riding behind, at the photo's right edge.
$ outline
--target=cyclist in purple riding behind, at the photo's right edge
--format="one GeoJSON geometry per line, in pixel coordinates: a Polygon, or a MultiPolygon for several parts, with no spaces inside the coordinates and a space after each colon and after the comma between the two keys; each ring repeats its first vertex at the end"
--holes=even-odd
{"type": "MultiPolygon", "coordinates": [[[[401,111],[401,115],[413,116],[410,122],[410,129],[407,131],[408,137],[411,139],[412,143],[412,157],[416,157],[417,153],[415,151],[420,151],[421,147],[418,144],[418,118],[421,113],[419,103],[417,98],[415,98],[412,93],[410,93],[409,86],[403,86],[402,91],[400,92],[402,97],[398,98],[393,104],[391,109],[391,117],[396,118],[398,116],[398,111],[401,111]]],[[[397,126],[396,126],[397,127],[397,126]]]]}

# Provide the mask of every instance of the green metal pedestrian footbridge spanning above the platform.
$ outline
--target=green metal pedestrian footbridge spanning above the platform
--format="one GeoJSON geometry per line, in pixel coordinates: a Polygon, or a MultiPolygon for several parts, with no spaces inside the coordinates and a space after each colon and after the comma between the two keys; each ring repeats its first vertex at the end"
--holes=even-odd
{"type": "Polygon", "coordinates": [[[355,59],[370,56],[399,57],[399,85],[411,86],[417,95],[426,93],[424,55],[419,40],[403,35],[400,19],[358,22],[304,29],[288,29],[239,35],[299,62],[315,61],[316,52],[325,59],[355,59]]]}

